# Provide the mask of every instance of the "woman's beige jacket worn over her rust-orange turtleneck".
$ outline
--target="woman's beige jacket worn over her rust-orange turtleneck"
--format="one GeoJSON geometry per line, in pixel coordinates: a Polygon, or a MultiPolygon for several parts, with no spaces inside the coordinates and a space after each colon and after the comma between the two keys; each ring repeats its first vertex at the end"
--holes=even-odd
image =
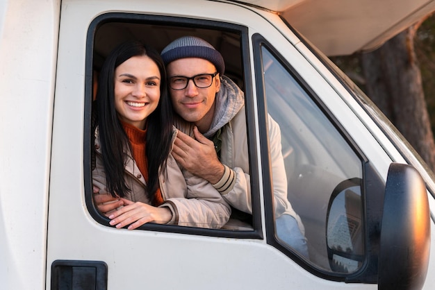
{"type": "MultiPolygon", "coordinates": [[[[172,142],[175,137],[177,137],[177,129],[174,128],[172,142]]],[[[101,194],[106,194],[106,175],[99,142],[97,128],[95,130],[96,164],[92,171],[92,182],[99,187],[101,194]]],[[[151,204],[145,194],[145,178],[128,149],[124,154],[126,160],[124,178],[132,189],[126,199],[151,204]]],[[[159,176],[159,180],[165,201],[161,207],[168,207],[172,212],[172,221],[168,224],[221,228],[229,220],[230,207],[219,192],[206,180],[181,169],[172,154],[167,158],[166,170],[159,176]]]]}

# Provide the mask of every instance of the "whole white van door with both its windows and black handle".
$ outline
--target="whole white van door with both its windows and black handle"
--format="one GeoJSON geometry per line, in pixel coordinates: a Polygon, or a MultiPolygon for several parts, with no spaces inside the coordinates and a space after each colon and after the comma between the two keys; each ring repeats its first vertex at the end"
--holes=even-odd
{"type": "Polygon", "coordinates": [[[373,190],[383,191],[391,158],[263,12],[196,0],[66,0],[61,11],[47,289],[375,289],[377,273],[364,268],[373,263],[363,214],[366,177],[374,180],[373,190]],[[113,228],[92,201],[95,76],[110,49],[123,40],[147,40],[161,50],[182,35],[220,44],[226,74],[245,92],[253,207],[249,226],[113,228]],[[270,151],[268,114],[279,124],[281,152],[270,151]],[[284,155],[288,199],[305,225],[309,257],[275,232],[270,160],[277,154],[284,155]],[[343,198],[330,216],[336,234],[329,241],[325,209],[331,196],[343,198]],[[350,225],[354,231],[343,233],[350,225]],[[331,257],[327,246],[343,246],[337,244],[340,237],[352,255],[331,257]],[[342,283],[349,279],[368,284],[342,283]]]}

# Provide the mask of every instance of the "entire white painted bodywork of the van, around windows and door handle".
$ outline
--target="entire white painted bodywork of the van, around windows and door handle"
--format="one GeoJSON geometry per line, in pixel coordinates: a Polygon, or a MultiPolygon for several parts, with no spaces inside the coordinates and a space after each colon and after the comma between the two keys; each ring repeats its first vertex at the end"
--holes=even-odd
{"type": "MultiPolygon", "coordinates": [[[[291,60],[381,178],[386,180],[391,162],[406,162],[331,71],[278,22],[276,13],[219,1],[163,2],[0,1],[2,287],[50,289],[52,262],[85,259],[108,264],[109,289],[241,289],[240,285],[245,289],[377,289],[376,284],[346,284],[313,275],[265,239],[118,230],[90,216],[83,183],[86,35],[92,20],[107,12],[211,19],[247,26],[249,42],[254,33],[260,33],[291,60]],[[279,30],[272,25],[275,22],[279,30]],[[186,277],[186,273],[190,275],[186,277]]],[[[248,2],[279,10],[289,1],[248,2]]],[[[299,7],[304,2],[294,1],[299,7]]],[[[416,5],[422,6],[420,2],[416,5]]],[[[290,15],[292,10],[286,11],[284,14],[290,15]]],[[[295,23],[303,33],[297,27],[299,22],[295,23]]],[[[305,29],[311,33],[312,28],[305,29]]],[[[391,29],[383,36],[397,31],[391,29]]],[[[372,47],[379,42],[356,43],[357,48],[352,46],[347,51],[366,49],[366,44],[372,47]]],[[[254,80],[251,46],[249,53],[254,80]]],[[[254,96],[256,89],[254,84],[254,96]]],[[[424,168],[418,170],[424,175],[424,168]]],[[[261,184],[261,171],[258,176],[261,184]]],[[[264,216],[262,189],[259,194],[264,216]]],[[[434,212],[435,201],[430,194],[429,205],[434,212]]],[[[264,219],[262,225],[265,237],[264,219]]],[[[431,228],[434,232],[433,221],[431,228]]],[[[435,285],[430,275],[435,269],[434,252],[423,289],[435,285]]]]}

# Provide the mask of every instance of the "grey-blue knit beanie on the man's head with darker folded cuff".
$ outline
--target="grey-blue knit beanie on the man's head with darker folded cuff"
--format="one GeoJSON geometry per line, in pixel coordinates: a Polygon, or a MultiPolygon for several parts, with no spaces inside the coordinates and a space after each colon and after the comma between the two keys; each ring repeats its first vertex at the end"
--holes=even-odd
{"type": "Polygon", "coordinates": [[[174,40],[161,52],[163,62],[168,65],[180,58],[203,58],[215,65],[217,72],[222,76],[225,71],[224,58],[211,44],[194,36],[183,36],[174,40]]]}

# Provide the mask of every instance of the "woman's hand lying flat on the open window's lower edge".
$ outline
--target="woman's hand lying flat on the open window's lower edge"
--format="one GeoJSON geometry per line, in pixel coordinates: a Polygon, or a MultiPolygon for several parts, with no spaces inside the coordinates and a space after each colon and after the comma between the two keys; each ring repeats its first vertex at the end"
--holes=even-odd
{"type": "Polygon", "coordinates": [[[120,198],[124,206],[108,216],[110,225],[124,228],[129,225],[129,230],[144,225],[145,223],[168,223],[172,219],[172,212],[167,207],[154,207],[146,203],[133,203],[125,198],[120,198]]]}

